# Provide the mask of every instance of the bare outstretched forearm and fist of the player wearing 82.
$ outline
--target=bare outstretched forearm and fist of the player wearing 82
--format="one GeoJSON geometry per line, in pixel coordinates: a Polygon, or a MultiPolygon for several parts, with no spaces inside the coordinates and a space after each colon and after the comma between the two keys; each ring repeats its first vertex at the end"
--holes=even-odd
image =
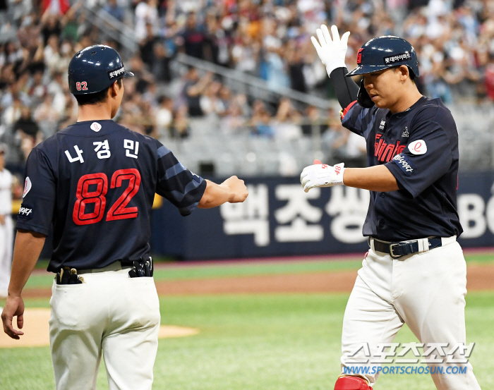
{"type": "Polygon", "coordinates": [[[248,191],[245,183],[236,176],[227,178],[221,184],[206,180],[206,189],[203,197],[200,198],[198,207],[200,209],[210,209],[227,202],[239,203],[246,200],[247,196],[248,191]]]}

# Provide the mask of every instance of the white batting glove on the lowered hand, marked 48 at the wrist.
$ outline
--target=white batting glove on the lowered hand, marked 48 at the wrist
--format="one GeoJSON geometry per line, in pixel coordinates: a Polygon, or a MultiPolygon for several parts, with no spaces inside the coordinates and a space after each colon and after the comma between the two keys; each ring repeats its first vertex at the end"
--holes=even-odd
{"type": "Polygon", "coordinates": [[[321,164],[315,160],[314,165],[306,166],[301,175],[300,182],[303,190],[308,193],[308,190],[315,187],[332,187],[333,185],[343,184],[344,163],[335,166],[321,164]]]}

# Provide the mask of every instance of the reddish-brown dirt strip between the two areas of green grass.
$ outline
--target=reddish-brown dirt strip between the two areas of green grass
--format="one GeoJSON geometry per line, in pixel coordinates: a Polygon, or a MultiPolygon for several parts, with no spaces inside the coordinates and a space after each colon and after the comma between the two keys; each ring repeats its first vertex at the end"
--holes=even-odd
{"type": "MultiPolygon", "coordinates": [[[[157,281],[159,295],[200,295],[228,293],[348,293],[354,286],[356,271],[312,274],[237,276],[215,279],[157,281]]],[[[469,265],[469,291],[494,290],[494,264],[469,265]]],[[[30,288],[25,298],[47,298],[51,288],[30,288]]]]}

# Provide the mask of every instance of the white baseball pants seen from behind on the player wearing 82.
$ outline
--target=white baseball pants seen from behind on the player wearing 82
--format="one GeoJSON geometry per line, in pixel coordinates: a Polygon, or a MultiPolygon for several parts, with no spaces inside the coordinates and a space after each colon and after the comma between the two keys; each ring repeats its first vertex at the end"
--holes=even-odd
{"type": "Polygon", "coordinates": [[[50,347],[57,390],[96,389],[101,355],[110,390],[150,390],[158,347],[159,300],[152,278],[128,269],[83,274],[52,286],[50,347]]]}

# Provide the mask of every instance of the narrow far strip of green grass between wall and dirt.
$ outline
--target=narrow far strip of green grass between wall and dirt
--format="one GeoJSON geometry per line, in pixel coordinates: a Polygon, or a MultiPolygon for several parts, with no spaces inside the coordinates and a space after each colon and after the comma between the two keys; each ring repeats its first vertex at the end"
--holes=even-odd
{"type": "MultiPolygon", "coordinates": [[[[494,263],[493,253],[466,255],[467,264],[494,263]]],[[[159,263],[158,263],[159,264],[159,263]]],[[[239,264],[196,264],[177,263],[166,268],[156,269],[155,280],[209,279],[229,276],[254,276],[275,274],[301,274],[310,272],[351,271],[361,267],[360,258],[346,260],[297,260],[288,262],[239,262],[239,264]]],[[[44,263],[46,269],[47,263],[44,263]]],[[[52,273],[30,276],[25,288],[50,287],[53,283],[52,273]]]]}

